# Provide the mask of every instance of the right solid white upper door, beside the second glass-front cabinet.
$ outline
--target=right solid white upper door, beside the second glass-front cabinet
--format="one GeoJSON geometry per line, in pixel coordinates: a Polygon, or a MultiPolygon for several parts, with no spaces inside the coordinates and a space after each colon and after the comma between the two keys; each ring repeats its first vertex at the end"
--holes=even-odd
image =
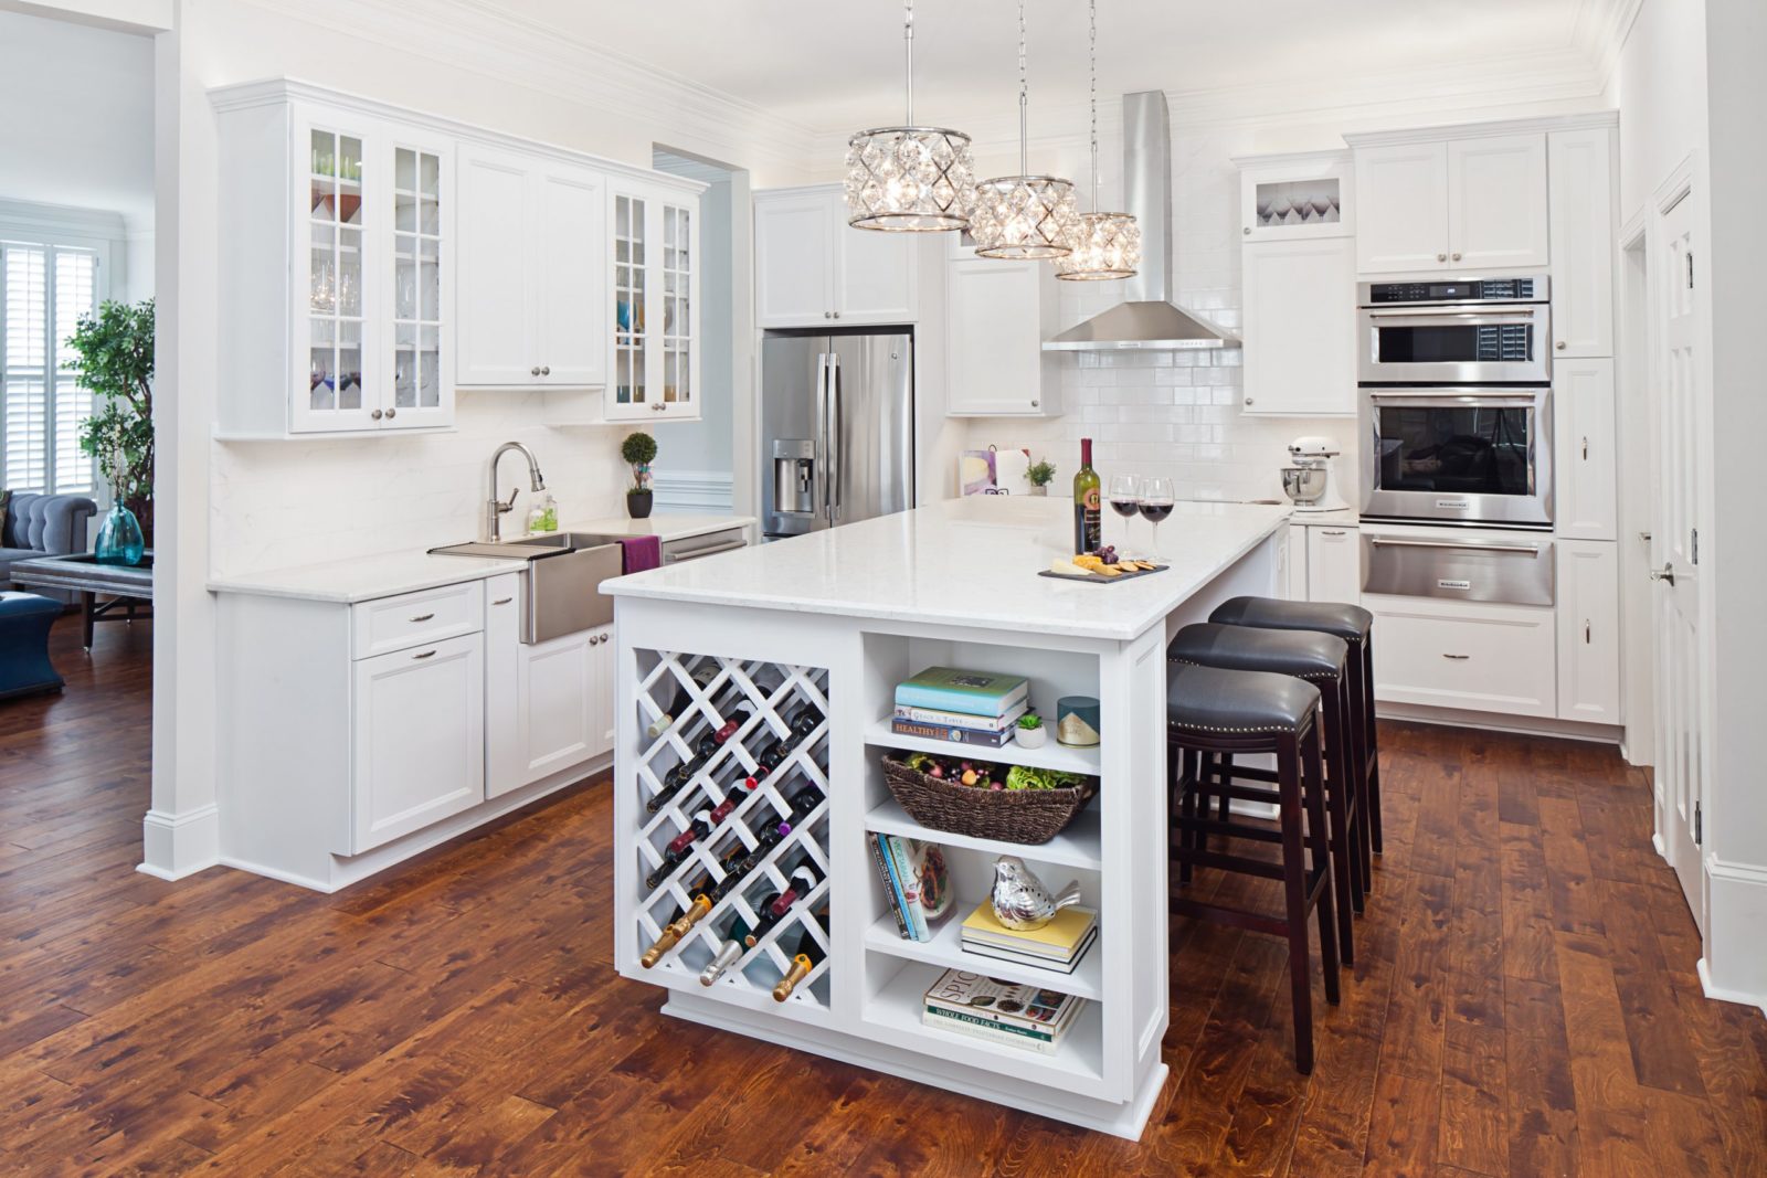
{"type": "Polygon", "coordinates": [[[539,178],[539,344],[542,385],[608,380],[606,193],[583,168],[539,178]]]}

